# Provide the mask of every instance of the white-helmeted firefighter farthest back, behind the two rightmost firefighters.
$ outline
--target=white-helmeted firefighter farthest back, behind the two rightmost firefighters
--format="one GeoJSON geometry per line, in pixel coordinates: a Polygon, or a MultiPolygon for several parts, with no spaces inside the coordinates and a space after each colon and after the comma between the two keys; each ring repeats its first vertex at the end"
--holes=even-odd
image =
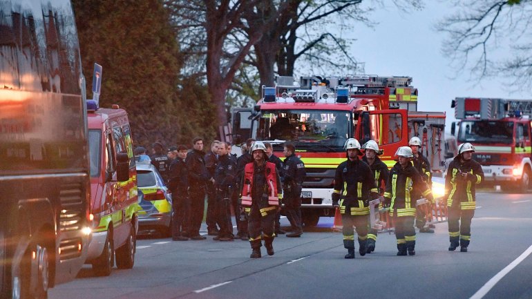
{"type": "MultiPolygon", "coordinates": [[[[424,155],[421,155],[421,140],[419,137],[412,137],[408,142],[408,145],[412,149],[412,164],[416,168],[417,172],[421,175],[421,179],[428,184],[429,188],[432,188],[432,173],[430,173],[430,163],[424,155]]],[[[415,193],[412,194],[412,197],[415,200],[421,198],[421,194],[415,193]]],[[[426,215],[423,209],[417,209],[416,211],[416,227],[419,229],[420,233],[434,233],[434,230],[431,227],[435,227],[433,224],[429,224],[429,227],[425,226],[426,224],[426,215]]]]}

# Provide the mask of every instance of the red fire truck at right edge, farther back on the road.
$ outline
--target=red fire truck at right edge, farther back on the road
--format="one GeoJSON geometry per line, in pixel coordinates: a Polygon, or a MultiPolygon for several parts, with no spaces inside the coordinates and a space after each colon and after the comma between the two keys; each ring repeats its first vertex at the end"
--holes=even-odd
{"type": "Polygon", "coordinates": [[[526,192],[531,186],[531,99],[457,97],[451,105],[459,119],[451,126],[458,143],[475,146],[486,182],[526,192]]]}

